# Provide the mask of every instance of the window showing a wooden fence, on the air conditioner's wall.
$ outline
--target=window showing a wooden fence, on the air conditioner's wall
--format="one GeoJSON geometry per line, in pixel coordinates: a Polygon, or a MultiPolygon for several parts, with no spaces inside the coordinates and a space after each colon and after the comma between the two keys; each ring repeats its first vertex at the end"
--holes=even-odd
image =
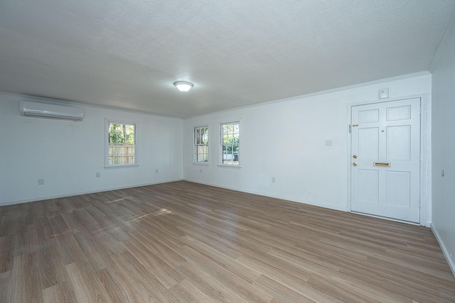
{"type": "Polygon", "coordinates": [[[136,165],[136,124],[107,122],[107,166],[136,165]]]}

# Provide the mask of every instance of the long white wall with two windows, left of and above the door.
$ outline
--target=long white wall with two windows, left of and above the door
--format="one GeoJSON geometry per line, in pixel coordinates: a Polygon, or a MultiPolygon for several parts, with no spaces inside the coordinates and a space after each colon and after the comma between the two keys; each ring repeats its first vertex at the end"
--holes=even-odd
{"type": "Polygon", "coordinates": [[[431,75],[410,75],[186,119],[185,179],[346,211],[348,104],[378,100],[378,91],[384,87],[389,88],[389,100],[415,95],[429,98],[431,75]],[[219,167],[219,123],[236,119],[242,119],[242,167],[219,167]],[[193,127],[203,125],[210,127],[210,165],[195,165],[193,127]],[[333,146],[327,147],[326,140],[332,140],[333,146]]]}

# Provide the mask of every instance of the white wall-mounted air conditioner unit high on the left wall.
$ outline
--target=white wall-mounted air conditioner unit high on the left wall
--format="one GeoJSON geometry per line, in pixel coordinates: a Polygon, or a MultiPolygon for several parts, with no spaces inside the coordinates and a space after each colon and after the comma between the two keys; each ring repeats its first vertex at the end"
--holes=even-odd
{"type": "Polygon", "coordinates": [[[20,101],[19,111],[21,111],[22,116],[72,121],[82,121],[84,119],[83,109],[55,104],[20,101]]]}

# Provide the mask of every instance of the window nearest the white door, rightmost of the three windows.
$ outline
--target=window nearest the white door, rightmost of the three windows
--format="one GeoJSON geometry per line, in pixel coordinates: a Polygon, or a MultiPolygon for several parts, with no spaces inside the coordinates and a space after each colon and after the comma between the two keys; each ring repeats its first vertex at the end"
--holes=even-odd
{"type": "Polygon", "coordinates": [[[240,123],[220,124],[221,132],[221,163],[239,165],[240,154],[240,123]]]}

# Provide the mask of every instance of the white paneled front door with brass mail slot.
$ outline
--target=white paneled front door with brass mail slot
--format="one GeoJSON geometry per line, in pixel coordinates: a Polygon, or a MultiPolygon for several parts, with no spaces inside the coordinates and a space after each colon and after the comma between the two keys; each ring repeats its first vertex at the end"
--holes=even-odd
{"type": "Polygon", "coordinates": [[[352,106],[351,211],[419,223],[420,98],[352,106]]]}

